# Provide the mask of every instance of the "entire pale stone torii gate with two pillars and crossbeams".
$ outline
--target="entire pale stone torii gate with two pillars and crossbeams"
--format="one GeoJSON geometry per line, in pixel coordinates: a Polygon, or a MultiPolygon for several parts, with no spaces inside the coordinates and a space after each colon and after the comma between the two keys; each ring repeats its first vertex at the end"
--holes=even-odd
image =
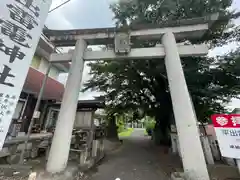
{"type": "MultiPolygon", "coordinates": [[[[73,52],[52,54],[50,58],[52,62],[71,61],[72,64],[48,157],[47,171],[57,173],[64,171],[67,166],[84,61],[165,57],[184,171],[194,180],[209,180],[197,119],[180,61],[180,57],[183,56],[206,55],[208,48],[205,44],[183,45],[177,44],[176,41],[201,38],[217,19],[218,15],[215,14],[159,26],[132,27],[128,32],[129,39],[157,40],[161,41],[162,45],[130,51],[126,48],[123,49],[124,54],[114,50],[87,51],[87,45],[107,44],[107,42],[114,44],[114,41],[116,45],[118,41],[116,37],[121,36],[121,33],[116,33],[115,28],[46,30],[45,35],[56,46],[75,46],[73,52]]],[[[126,37],[125,43],[129,44],[126,37]]]]}

